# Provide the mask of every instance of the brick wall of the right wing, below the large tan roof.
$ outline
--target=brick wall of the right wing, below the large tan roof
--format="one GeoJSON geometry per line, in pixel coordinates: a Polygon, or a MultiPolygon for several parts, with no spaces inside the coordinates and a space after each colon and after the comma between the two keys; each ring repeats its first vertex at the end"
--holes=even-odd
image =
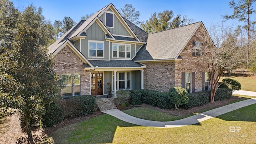
{"type": "Polygon", "coordinates": [[[180,62],[144,63],[146,65],[144,70],[145,89],[167,92],[173,86],[181,87],[182,72],[190,72],[190,76],[192,76],[192,72],[195,72],[195,91],[202,91],[202,72],[207,72],[208,66],[198,60],[199,56],[192,56],[192,40],[197,41],[195,36],[190,39],[180,54],[182,57],[180,62]]]}

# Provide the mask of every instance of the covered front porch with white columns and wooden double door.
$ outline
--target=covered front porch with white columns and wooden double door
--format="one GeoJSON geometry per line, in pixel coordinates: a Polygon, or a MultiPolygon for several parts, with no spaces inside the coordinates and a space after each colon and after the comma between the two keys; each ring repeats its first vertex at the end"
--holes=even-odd
{"type": "Polygon", "coordinates": [[[118,90],[144,89],[144,68],[146,66],[131,60],[90,60],[90,62],[95,66],[94,70],[90,71],[91,95],[108,95],[110,85],[114,97],[118,90]],[[122,67],[127,63],[129,67],[122,67]]]}

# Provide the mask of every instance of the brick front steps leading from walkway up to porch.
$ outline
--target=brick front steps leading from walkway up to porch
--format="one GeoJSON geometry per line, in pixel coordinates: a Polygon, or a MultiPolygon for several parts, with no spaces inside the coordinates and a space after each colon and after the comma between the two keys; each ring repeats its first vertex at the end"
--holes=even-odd
{"type": "Polygon", "coordinates": [[[101,112],[105,110],[117,109],[113,101],[114,98],[96,98],[96,104],[101,112]]]}

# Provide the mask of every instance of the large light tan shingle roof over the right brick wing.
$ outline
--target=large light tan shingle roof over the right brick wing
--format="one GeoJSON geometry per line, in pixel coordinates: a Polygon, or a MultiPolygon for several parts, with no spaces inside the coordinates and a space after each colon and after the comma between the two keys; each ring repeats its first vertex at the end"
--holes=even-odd
{"type": "Polygon", "coordinates": [[[180,52],[184,49],[200,24],[202,22],[148,34],[146,46],[137,52],[133,60],[167,60],[180,58],[180,52]]]}

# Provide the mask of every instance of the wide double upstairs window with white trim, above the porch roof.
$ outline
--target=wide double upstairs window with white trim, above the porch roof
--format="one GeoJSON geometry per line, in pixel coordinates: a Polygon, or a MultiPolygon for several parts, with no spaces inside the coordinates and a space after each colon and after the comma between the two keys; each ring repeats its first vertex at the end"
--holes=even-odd
{"type": "Polygon", "coordinates": [[[113,58],[131,58],[131,44],[112,44],[113,58]]]}

